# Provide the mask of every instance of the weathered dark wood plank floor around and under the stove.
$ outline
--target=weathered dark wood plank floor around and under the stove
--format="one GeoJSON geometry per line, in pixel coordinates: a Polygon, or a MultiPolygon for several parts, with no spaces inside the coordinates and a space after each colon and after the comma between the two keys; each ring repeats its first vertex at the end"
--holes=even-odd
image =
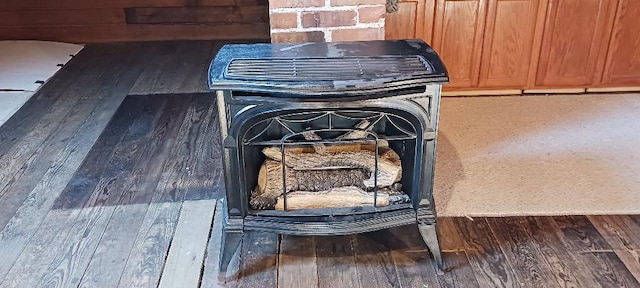
{"type": "Polygon", "coordinates": [[[89,45],[0,127],[0,287],[640,287],[632,215],[440,218],[444,272],[414,226],[247,233],[220,283],[224,43],[89,45]]]}

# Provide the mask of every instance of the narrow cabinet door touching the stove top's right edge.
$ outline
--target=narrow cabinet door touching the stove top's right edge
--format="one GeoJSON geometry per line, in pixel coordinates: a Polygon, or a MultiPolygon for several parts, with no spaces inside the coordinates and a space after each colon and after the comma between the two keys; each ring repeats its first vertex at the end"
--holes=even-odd
{"type": "Polygon", "coordinates": [[[485,11],[485,0],[436,2],[432,42],[449,72],[445,87],[478,85],[485,11]]]}

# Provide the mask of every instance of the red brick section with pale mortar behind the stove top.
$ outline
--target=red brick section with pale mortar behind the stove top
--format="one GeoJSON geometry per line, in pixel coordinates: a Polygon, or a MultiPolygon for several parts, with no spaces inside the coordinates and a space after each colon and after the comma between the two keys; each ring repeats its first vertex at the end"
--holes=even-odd
{"type": "Polygon", "coordinates": [[[271,42],[384,39],[386,0],[269,0],[271,42]]]}

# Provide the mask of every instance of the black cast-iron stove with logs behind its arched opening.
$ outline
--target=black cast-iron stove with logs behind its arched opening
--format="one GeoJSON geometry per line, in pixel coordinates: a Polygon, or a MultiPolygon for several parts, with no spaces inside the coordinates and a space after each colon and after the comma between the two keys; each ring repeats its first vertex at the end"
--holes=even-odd
{"type": "Polygon", "coordinates": [[[224,46],[209,71],[226,184],[220,273],[247,230],[409,224],[441,265],[432,191],[447,81],[421,40],[224,46]]]}

